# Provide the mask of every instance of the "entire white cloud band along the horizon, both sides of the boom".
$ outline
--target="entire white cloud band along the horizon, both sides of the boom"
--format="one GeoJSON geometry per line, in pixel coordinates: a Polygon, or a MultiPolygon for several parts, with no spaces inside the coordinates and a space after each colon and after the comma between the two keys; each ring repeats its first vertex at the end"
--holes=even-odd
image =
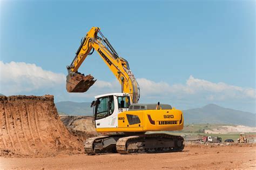
{"type": "MultiPolygon", "coordinates": [[[[6,96],[53,94],[56,101],[90,101],[99,94],[121,91],[117,80],[112,82],[97,80],[86,93],[68,93],[65,89],[65,74],[43,70],[35,64],[0,61],[0,71],[0,93],[6,96]]],[[[255,112],[256,93],[252,88],[221,82],[212,83],[193,76],[190,76],[184,84],[172,85],[146,78],[137,80],[142,102],[161,101],[183,109],[215,103],[255,112]]]]}

